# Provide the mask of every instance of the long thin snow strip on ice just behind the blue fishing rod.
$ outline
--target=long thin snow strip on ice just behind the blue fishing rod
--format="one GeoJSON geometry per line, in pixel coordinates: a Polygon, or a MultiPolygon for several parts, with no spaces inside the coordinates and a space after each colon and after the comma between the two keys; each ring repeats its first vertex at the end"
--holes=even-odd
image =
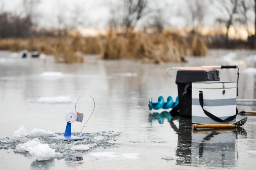
{"type": "Polygon", "coordinates": [[[27,102],[35,102],[35,103],[72,103],[74,102],[69,96],[57,96],[57,97],[40,97],[39,99],[29,99],[27,102]]]}

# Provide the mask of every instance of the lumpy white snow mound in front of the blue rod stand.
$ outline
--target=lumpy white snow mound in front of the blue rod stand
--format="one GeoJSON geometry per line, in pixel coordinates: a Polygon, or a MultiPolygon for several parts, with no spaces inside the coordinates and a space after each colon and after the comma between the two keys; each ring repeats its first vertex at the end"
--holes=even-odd
{"type": "Polygon", "coordinates": [[[55,157],[55,149],[50,148],[48,144],[41,144],[37,138],[24,144],[19,144],[14,152],[29,152],[29,154],[36,157],[38,161],[46,161],[55,157]]]}

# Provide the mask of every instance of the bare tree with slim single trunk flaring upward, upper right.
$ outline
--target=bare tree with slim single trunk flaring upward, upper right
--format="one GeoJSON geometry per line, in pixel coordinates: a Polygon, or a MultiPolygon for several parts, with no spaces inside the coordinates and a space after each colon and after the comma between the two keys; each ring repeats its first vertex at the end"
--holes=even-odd
{"type": "Polygon", "coordinates": [[[238,0],[222,0],[221,7],[222,17],[216,19],[220,24],[226,26],[226,43],[229,44],[229,28],[234,24],[236,14],[238,13],[238,0]]]}

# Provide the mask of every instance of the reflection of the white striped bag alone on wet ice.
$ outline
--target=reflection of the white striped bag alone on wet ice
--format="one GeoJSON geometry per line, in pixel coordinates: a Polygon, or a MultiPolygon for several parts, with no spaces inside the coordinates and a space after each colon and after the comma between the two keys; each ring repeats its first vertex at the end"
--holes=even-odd
{"type": "Polygon", "coordinates": [[[214,167],[235,166],[236,134],[230,130],[192,133],[191,163],[214,167]]]}

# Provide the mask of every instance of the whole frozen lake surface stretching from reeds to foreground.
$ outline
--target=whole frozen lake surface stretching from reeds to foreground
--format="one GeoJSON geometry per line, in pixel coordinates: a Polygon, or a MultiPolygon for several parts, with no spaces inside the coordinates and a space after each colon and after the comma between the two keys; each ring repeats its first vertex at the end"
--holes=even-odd
{"type": "MultiPolygon", "coordinates": [[[[252,169],[256,117],[249,116],[236,130],[195,131],[191,119],[159,121],[147,104],[150,96],[177,96],[175,71],[173,78],[166,74],[170,66],[237,64],[238,98],[255,99],[255,54],[211,50],[208,57],[189,58],[188,63],[159,65],[86,56],[83,64],[56,64],[49,56],[21,59],[0,51],[1,169],[252,169]],[[85,139],[52,140],[63,134],[65,112],[83,94],[96,102],[83,129],[85,139]]],[[[236,78],[235,69],[220,70],[221,81],[236,78]]],[[[256,105],[240,102],[238,110],[256,110],[256,105]]],[[[73,123],[72,135],[79,135],[82,126],[73,123]]]]}

